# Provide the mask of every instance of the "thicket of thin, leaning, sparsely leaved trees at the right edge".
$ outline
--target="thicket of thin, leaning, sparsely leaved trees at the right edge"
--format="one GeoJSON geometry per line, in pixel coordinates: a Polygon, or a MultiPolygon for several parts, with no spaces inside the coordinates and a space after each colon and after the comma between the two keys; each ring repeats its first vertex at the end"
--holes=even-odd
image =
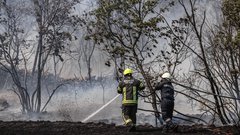
{"type": "MultiPolygon", "coordinates": [[[[207,23],[207,11],[201,11],[198,0],[178,0],[185,11],[192,42],[184,43],[192,54],[194,68],[178,85],[179,93],[199,102],[202,111],[219,118],[222,124],[239,121],[239,0],[225,0],[218,15],[219,24],[207,23]],[[201,15],[199,15],[201,13],[201,15]]],[[[182,19],[182,18],[181,18],[182,19]]],[[[214,121],[213,121],[214,122],[214,121]]]]}

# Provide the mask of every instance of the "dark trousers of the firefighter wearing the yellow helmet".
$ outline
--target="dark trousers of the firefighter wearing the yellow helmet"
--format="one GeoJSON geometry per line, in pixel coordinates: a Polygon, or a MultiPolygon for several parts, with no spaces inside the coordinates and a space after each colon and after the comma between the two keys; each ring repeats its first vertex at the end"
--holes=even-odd
{"type": "Polygon", "coordinates": [[[122,117],[126,125],[136,125],[137,105],[122,105],[122,117]]]}

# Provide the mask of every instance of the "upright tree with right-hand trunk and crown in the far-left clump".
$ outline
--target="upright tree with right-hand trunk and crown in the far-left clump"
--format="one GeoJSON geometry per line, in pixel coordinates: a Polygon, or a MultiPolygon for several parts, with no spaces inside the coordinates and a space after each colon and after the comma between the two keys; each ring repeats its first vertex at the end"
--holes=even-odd
{"type": "MultiPolygon", "coordinates": [[[[32,0],[36,22],[38,26],[38,47],[36,51],[33,73],[37,66],[37,87],[32,96],[36,103],[32,106],[37,112],[41,108],[41,77],[49,55],[58,56],[60,60],[61,50],[67,45],[66,41],[72,40],[70,31],[77,25],[77,17],[72,16],[72,7],[76,0],[32,0]],[[69,31],[70,30],[70,31],[69,31]],[[36,98],[36,99],[35,99],[36,98]]],[[[34,74],[33,74],[34,75],[34,74]]]]}

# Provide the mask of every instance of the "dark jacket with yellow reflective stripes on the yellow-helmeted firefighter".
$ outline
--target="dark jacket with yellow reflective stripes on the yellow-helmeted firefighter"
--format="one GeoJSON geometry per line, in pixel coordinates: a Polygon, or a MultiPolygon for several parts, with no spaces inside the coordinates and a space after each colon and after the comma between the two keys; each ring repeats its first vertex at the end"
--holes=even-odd
{"type": "Polygon", "coordinates": [[[119,83],[117,92],[122,94],[123,105],[137,105],[138,92],[144,88],[145,86],[141,81],[132,76],[127,76],[119,83]]]}

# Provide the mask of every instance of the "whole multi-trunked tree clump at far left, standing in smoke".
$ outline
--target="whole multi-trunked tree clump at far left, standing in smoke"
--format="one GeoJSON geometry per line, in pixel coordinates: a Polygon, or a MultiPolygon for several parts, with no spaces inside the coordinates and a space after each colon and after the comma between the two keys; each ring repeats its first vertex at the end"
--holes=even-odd
{"type": "Polygon", "coordinates": [[[1,61],[3,69],[11,74],[16,85],[15,93],[22,105],[23,113],[41,112],[50,101],[56,87],[49,99],[42,107],[42,77],[46,63],[51,56],[61,61],[61,54],[65,47],[73,40],[72,33],[80,19],[72,14],[73,6],[77,0],[31,0],[23,2],[2,3],[1,14],[1,61]],[[23,5],[25,3],[25,5],[23,5]],[[35,13],[35,14],[33,14],[35,13]],[[37,28],[37,47],[27,42],[22,36],[28,31],[24,27],[25,18],[30,18],[37,28]],[[32,47],[32,48],[31,48],[32,47]],[[29,74],[29,55],[31,49],[36,49],[32,75],[29,74]],[[24,69],[24,75],[18,71],[24,69]],[[31,78],[31,79],[29,79],[31,78]],[[37,80],[36,82],[34,82],[37,80]]]}

